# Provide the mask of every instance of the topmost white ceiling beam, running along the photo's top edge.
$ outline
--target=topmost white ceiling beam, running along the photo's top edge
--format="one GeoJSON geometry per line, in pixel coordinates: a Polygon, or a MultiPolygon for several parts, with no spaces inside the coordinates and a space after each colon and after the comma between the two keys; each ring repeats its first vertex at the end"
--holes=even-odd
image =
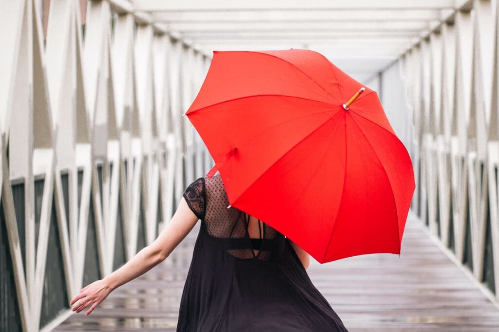
{"type": "Polygon", "coordinates": [[[203,10],[297,10],[297,9],[437,9],[454,8],[455,0],[133,0],[136,10],[144,11],[203,11],[203,10]]]}

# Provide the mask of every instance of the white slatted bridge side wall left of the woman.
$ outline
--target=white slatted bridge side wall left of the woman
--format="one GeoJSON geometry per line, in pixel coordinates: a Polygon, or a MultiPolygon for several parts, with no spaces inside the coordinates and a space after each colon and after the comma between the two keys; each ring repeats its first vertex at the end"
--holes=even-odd
{"type": "Polygon", "coordinates": [[[50,330],[211,168],[181,116],[210,58],[129,1],[0,0],[0,21],[0,331],[50,330]]]}

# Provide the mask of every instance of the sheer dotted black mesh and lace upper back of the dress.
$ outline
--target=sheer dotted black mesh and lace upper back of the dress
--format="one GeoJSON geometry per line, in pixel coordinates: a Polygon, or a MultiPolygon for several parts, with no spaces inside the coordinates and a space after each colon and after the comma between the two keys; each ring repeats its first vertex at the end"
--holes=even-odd
{"type": "Polygon", "coordinates": [[[220,175],[199,178],[190,184],[185,193],[189,208],[201,219],[208,234],[214,237],[223,250],[241,259],[269,260],[283,235],[262,222],[262,239],[255,253],[248,231],[248,216],[234,207],[227,209],[229,200],[220,175]]]}

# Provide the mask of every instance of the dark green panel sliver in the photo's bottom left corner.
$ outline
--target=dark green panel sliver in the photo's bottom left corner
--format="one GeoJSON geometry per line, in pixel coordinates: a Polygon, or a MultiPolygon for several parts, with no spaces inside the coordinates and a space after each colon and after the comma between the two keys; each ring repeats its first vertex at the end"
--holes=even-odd
{"type": "MultiPolygon", "coordinates": [[[[22,331],[3,204],[0,202],[0,331],[22,331]]],[[[24,228],[24,227],[23,227],[24,228]]]]}

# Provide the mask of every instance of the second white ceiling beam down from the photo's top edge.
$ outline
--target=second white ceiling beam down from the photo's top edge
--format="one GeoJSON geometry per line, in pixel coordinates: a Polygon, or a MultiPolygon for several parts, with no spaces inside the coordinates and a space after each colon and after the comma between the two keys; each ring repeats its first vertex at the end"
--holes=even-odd
{"type": "MultiPolygon", "coordinates": [[[[452,10],[452,9],[451,9],[452,10]]],[[[428,21],[441,18],[439,10],[435,9],[393,9],[393,10],[239,10],[239,11],[182,11],[153,12],[157,22],[300,22],[300,21],[428,21]]]]}

